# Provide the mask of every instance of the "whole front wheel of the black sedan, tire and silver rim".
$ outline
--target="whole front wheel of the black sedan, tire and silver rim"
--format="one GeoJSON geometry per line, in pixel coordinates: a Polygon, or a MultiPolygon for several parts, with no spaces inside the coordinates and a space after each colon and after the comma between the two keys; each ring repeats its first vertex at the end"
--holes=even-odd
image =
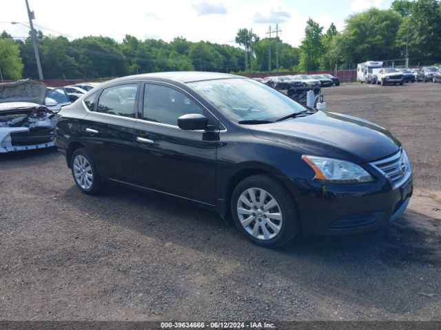
{"type": "Polygon", "coordinates": [[[294,239],[300,227],[296,206],[289,196],[286,188],[269,175],[253,175],[240,181],[231,199],[236,227],[257,245],[266,248],[285,245],[294,239]],[[264,200],[260,201],[263,194],[264,200]]]}

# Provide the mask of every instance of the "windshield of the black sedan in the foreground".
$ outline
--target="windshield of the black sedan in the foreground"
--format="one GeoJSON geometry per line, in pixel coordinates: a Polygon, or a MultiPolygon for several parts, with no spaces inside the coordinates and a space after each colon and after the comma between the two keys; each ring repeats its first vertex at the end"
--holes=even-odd
{"type": "Polygon", "coordinates": [[[212,102],[219,111],[234,122],[244,120],[274,122],[285,115],[306,109],[280,91],[252,79],[204,80],[187,85],[212,102]]]}

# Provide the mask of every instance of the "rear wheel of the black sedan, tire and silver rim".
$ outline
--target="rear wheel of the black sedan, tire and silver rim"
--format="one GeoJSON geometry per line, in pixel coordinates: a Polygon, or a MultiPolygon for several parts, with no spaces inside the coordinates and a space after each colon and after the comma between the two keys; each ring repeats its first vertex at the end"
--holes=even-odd
{"type": "Polygon", "coordinates": [[[70,159],[72,177],[76,186],[87,195],[96,195],[103,190],[103,181],[94,161],[85,148],[78,148],[70,159]]]}

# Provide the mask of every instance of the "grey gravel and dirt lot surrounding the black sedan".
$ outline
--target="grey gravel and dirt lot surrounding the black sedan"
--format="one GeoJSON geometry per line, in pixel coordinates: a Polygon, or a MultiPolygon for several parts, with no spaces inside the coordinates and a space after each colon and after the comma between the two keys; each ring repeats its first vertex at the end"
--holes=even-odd
{"type": "Polygon", "coordinates": [[[267,250],[170,197],[83,195],[57,151],[0,155],[0,319],[440,320],[441,84],[324,94],[409,151],[416,190],[390,228],[267,250]]]}

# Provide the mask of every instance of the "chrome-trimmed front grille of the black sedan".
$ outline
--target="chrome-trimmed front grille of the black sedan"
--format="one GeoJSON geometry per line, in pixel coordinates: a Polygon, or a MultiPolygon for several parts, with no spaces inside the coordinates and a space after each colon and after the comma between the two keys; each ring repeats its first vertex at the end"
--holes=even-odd
{"type": "Polygon", "coordinates": [[[371,164],[391,181],[394,188],[398,188],[404,184],[412,172],[409,157],[407,157],[405,151],[402,150],[391,157],[380,159],[371,164]]]}

